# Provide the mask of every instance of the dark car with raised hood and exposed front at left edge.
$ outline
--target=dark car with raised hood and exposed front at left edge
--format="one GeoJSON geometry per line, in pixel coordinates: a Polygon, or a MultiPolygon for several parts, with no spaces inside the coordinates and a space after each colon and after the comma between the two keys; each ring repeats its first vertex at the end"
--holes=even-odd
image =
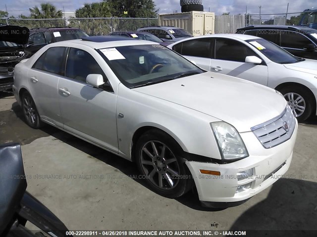
{"type": "Polygon", "coordinates": [[[26,27],[0,25],[0,91],[12,88],[14,66],[26,58],[29,34],[26,27]]]}

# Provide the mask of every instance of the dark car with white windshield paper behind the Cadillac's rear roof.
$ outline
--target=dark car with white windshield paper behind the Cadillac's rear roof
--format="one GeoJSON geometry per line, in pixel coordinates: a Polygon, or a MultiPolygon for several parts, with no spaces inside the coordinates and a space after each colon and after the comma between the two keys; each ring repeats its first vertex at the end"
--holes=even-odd
{"type": "Polygon", "coordinates": [[[49,43],[59,42],[63,40],[76,40],[87,36],[87,33],[78,28],[33,28],[30,30],[28,46],[26,47],[25,51],[28,53],[28,57],[31,57],[40,48],[49,43]]]}

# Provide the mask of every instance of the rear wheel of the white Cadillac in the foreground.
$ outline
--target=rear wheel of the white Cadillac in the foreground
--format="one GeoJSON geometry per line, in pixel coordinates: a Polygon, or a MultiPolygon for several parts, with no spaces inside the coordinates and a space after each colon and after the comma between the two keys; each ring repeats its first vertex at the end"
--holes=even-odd
{"type": "Polygon", "coordinates": [[[43,126],[43,122],[40,119],[38,110],[36,109],[34,100],[29,92],[25,91],[22,94],[22,111],[26,123],[35,129],[38,129],[43,126]]]}

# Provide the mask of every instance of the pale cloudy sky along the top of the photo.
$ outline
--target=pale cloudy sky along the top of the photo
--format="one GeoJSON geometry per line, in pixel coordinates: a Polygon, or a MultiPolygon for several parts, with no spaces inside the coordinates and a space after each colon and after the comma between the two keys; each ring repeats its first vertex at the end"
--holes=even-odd
{"type": "MultiPolygon", "coordinates": [[[[42,2],[51,2],[57,9],[63,9],[65,12],[74,12],[84,3],[98,2],[100,0],[1,0],[0,10],[5,11],[5,5],[9,16],[18,16],[20,14],[29,15],[29,8],[40,5],[42,2]]],[[[176,10],[181,12],[179,0],[154,0],[159,13],[171,13],[176,10]]],[[[203,0],[204,10],[215,12],[215,15],[221,15],[223,12],[231,14],[259,14],[259,5],[261,5],[261,14],[285,13],[289,3],[288,12],[300,12],[304,9],[317,8],[316,0],[203,0]]]]}

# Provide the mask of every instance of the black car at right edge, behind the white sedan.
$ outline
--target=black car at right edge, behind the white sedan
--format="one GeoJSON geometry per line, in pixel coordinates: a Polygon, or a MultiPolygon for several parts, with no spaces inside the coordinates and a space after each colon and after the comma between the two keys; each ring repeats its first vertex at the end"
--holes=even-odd
{"type": "Polygon", "coordinates": [[[317,60],[317,30],[303,26],[247,26],[236,34],[246,34],[270,40],[291,54],[317,60]]]}

